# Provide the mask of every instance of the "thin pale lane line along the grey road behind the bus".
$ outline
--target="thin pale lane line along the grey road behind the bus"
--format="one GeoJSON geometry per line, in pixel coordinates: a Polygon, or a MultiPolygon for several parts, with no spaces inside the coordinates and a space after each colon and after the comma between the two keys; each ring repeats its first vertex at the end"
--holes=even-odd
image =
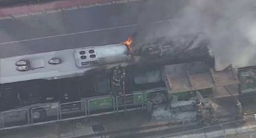
{"type": "MultiPolygon", "coordinates": [[[[173,19],[158,20],[158,21],[155,21],[155,22],[151,22],[149,24],[157,24],[157,23],[172,22],[172,21],[173,21],[173,19]]],[[[68,33],[68,34],[51,35],[51,36],[48,36],[48,37],[38,37],[38,38],[31,38],[31,39],[26,39],[26,40],[8,41],[8,42],[0,43],[0,45],[27,42],[27,41],[35,41],[35,40],[42,40],[42,39],[48,39],[48,38],[54,38],[54,37],[64,37],[64,36],[68,36],[68,35],[86,34],[86,33],[89,33],[89,32],[107,31],[107,30],[111,30],[111,29],[130,28],[130,27],[135,27],[135,26],[139,26],[139,25],[140,24],[124,25],[124,26],[116,26],[116,27],[104,28],[104,29],[94,29],[94,30],[90,30],[90,31],[71,32],[71,33],[68,33]]]]}

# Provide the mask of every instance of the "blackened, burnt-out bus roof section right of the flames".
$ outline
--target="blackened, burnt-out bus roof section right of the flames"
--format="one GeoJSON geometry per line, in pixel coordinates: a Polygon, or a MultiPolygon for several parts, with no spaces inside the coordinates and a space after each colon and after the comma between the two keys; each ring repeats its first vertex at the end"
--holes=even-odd
{"type": "Polygon", "coordinates": [[[215,64],[210,40],[201,33],[144,41],[134,38],[131,47],[131,55],[140,56],[137,59],[139,65],[157,66],[202,61],[214,68],[215,64]]]}

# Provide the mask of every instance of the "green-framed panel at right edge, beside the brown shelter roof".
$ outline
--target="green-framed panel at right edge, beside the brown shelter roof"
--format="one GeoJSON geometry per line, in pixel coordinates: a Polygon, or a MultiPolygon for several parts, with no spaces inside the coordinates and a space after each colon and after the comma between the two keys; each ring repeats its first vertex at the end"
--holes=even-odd
{"type": "Polygon", "coordinates": [[[239,70],[239,78],[242,95],[256,93],[256,68],[239,70]]]}

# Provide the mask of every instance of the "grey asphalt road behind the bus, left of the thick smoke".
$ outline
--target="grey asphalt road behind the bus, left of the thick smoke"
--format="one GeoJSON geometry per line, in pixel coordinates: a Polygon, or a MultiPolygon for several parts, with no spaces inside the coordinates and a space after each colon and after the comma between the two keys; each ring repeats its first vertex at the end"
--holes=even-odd
{"type": "Polygon", "coordinates": [[[2,19],[0,58],[119,43],[138,32],[164,35],[184,2],[147,0],[2,19]]]}

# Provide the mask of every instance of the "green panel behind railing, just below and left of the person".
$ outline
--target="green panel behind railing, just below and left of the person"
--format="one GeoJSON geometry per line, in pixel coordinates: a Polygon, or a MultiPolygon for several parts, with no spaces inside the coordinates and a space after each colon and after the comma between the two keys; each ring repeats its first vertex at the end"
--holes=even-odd
{"type": "Polygon", "coordinates": [[[113,98],[105,97],[89,101],[89,110],[113,108],[113,98]]]}

